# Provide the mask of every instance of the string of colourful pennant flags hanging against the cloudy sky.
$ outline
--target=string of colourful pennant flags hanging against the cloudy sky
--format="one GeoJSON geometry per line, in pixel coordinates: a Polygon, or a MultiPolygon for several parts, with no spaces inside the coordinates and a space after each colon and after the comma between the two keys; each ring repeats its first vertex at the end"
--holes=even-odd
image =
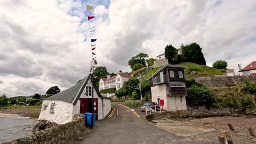
{"type": "MultiPolygon", "coordinates": [[[[92,11],[94,10],[94,8],[92,8],[91,5],[86,5],[86,7],[87,7],[87,15],[89,14],[88,13],[89,10],[92,10],[92,11]]],[[[96,61],[96,54],[95,54],[96,43],[95,43],[95,41],[97,40],[97,39],[91,38],[91,33],[95,32],[95,30],[96,30],[96,29],[92,29],[92,30],[90,29],[90,20],[92,20],[94,18],[95,18],[95,16],[88,15],[88,26],[89,26],[89,33],[90,33],[90,39],[91,39],[92,61],[96,61]]]]}

